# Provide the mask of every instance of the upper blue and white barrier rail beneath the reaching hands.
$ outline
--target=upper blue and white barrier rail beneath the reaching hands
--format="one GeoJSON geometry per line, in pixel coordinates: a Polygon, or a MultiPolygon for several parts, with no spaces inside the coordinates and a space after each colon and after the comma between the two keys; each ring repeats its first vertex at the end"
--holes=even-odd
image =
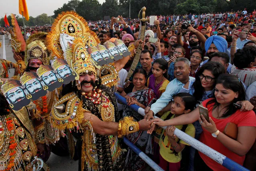
{"type": "MultiPolygon", "coordinates": [[[[122,97],[121,95],[119,95],[117,93],[115,93],[115,96],[118,101],[127,105],[125,97],[122,97]]],[[[133,105],[130,105],[129,107],[131,107],[133,110],[137,111],[139,114],[141,114],[143,116],[145,115],[145,110],[143,108],[139,107],[138,105],[133,104],[133,105]]],[[[158,118],[156,116],[154,116],[154,117],[158,118]]],[[[166,127],[162,127],[162,128],[166,129],[166,127]]],[[[185,141],[186,143],[191,145],[191,147],[194,147],[201,153],[204,153],[205,155],[207,155],[208,157],[210,157],[217,163],[220,163],[222,166],[226,167],[227,169],[229,169],[231,171],[249,171],[242,165],[239,165],[235,161],[229,159],[225,155],[222,155],[218,151],[208,147],[207,145],[205,145],[204,143],[201,143],[200,141],[194,139],[193,137],[187,135],[183,131],[181,131],[179,129],[175,129],[174,133],[179,139],[185,141]]]]}

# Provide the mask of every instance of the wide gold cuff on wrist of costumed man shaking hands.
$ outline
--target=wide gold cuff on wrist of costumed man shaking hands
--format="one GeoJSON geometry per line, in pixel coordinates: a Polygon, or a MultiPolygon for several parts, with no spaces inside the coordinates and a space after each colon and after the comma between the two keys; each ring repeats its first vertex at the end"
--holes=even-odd
{"type": "Polygon", "coordinates": [[[139,131],[139,123],[133,121],[133,117],[124,117],[119,121],[117,135],[119,138],[139,131]]]}

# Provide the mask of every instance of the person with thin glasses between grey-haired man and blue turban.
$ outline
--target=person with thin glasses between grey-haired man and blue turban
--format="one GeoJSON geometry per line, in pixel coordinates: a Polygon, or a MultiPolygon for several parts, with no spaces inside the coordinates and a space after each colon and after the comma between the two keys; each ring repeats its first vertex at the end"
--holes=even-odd
{"type": "Polygon", "coordinates": [[[196,72],[198,72],[199,68],[201,67],[202,61],[204,59],[204,55],[202,51],[196,50],[194,52],[191,53],[190,56],[190,77],[195,77],[196,76],[196,72]]]}

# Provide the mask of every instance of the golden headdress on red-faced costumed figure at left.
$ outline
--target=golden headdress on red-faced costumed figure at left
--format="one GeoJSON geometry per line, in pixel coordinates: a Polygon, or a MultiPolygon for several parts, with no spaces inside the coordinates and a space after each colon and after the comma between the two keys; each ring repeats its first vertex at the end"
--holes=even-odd
{"type": "Polygon", "coordinates": [[[25,64],[31,59],[39,59],[43,64],[48,65],[52,58],[52,52],[48,51],[45,46],[47,33],[36,33],[29,36],[25,50],[25,64]]]}

